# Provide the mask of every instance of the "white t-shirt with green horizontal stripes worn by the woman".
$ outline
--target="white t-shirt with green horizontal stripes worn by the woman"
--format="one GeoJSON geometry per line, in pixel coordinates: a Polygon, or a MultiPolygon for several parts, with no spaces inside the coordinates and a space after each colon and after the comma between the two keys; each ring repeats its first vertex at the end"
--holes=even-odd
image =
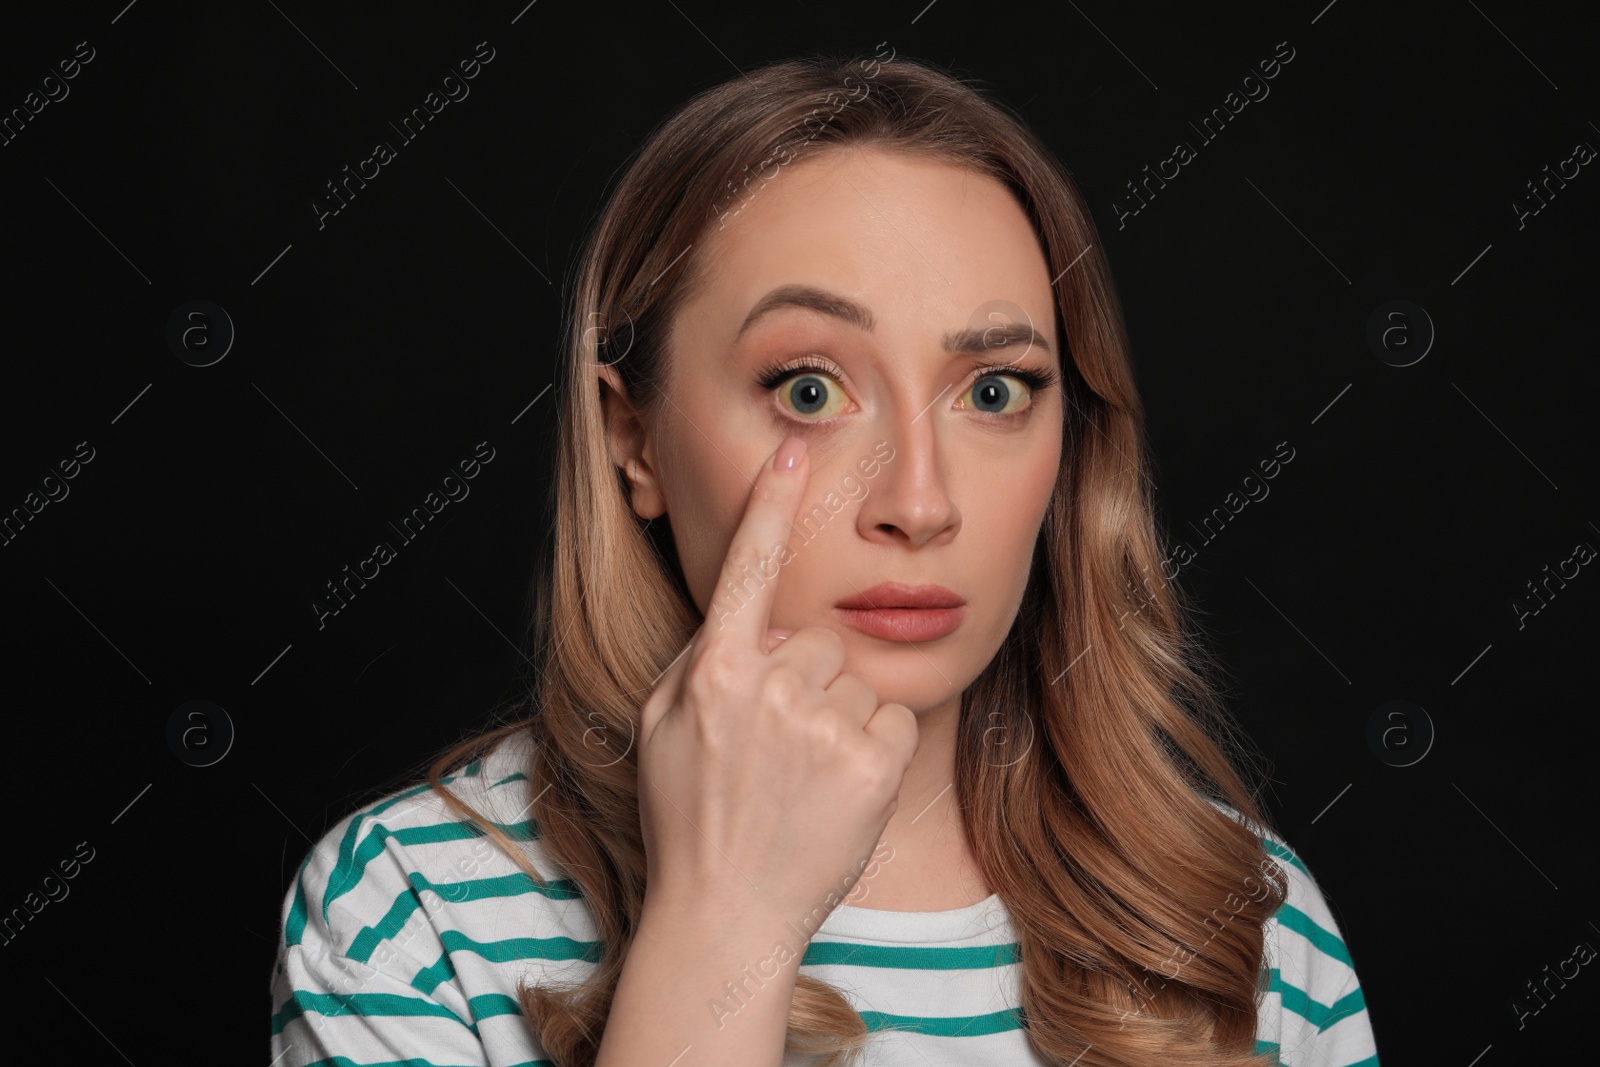
{"type": "MultiPolygon", "coordinates": [[[[346,816],[301,864],[283,902],[272,1067],[549,1062],[517,984],[576,984],[600,942],[576,883],[528,817],[526,744],[504,741],[443,781],[526,849],[547,886],[426,782],[346,816]]],[[[1322,893],[1288,848],[1274,838],[1264,846],[1290,893],[1266,926],[1256,1049],[1285,1067],[1376,1067],[1366,1003],[1322,893]]],[[[867,1067],[1043,1064],[1022,1029],[1019,968],[998,896],[947,912],[840,904],[800,961],[874,1032],[867,1067]]],[[[717,1014],[738,1009],[736,989],[717,1014]]],[[[784,1057],[784,1067],[811,1062],[784,1057]]]]}

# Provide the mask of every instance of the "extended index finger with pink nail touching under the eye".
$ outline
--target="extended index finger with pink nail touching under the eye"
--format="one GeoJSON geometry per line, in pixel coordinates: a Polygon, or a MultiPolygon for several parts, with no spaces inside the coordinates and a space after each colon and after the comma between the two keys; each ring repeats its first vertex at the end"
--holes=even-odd
{"type": "Polygon", "coordinates": [[[805,440],[786,437],[762,464],[717,576],[706,624],[710,640],[731,640],[766,653],[766,629],[778,595],[778,571],[789,561],[789,533],[811,478],[805,440]]]}

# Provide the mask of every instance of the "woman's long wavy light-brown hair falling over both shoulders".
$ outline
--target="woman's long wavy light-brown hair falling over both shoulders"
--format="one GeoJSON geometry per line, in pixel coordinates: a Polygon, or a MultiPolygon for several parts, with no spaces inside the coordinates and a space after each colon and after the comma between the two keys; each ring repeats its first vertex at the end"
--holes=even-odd
{"type": "MultiPolygon", "coordinates": [[[[1080,1067],[1242,1067],[1253,1054],[1262,923],[1283,901],[1222,672],[1163,573],[1128,339],[1082,194],[1022,120],[974,82],[904,58],[792,59],[706,90],[635,152],[576,264],[558,373],[552,537],[539,561],[526,696],[427,777],[534,878],[523,849],[440,776],[512,733],[542,849],[579,886],[603,958],[570,989],[518,989],[560,1067],[594,1064],[638,928],[646,864],[638,712],[702,622],[667,523],[629,506],[602,421],[598,365],[646,418],[664,403],[675,310],[706,234],[784,166],[872,144],[1000,181],[1032,221],[1064,339],[1064,456],[1027,590],[962,696],[955,792],[1019,945],[1034,1049],[1080,1067]],[[688,253],[688,254],[685,254],[688,253]],[[1070,358],[1066,358],[1066,357],[1070,358]],[[1230,809],[1230,811],[1229,811],[1230,809]]],[[[870,1037],[840,990],[800,976],[789,1049],[829,1067],[870,1037]]]]}

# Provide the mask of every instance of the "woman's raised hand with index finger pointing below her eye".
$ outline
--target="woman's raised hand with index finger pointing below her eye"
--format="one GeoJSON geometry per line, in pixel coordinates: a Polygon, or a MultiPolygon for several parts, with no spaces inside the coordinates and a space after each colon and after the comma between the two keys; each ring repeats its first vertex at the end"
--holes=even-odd
{"type": "Polygon", "coordinates": [[[731,613],[712,606],[645,701],[638,752],[646,896],[779,925],[826,915],[829,891],[848,891],[917,750],[917,717],[842,672],[837,632],[770,627],[771,553],[811,477],[795,440],[792,470],[762,466],[717,582],[754,584],[754,598],[731,613]]]}

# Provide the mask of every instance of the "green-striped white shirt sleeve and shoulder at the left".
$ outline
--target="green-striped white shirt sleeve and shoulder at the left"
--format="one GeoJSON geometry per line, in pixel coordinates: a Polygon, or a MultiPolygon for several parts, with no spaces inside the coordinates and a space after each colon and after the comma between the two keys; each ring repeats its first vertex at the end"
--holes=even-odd
{"type": "MultiPolygon", "coordinates": [[[[443,782],[493,819],[528,806],[518,765],[514,752],[443,782]]],[[[531,822],[496,825],[533,848],[531,822]]],[[[427,784],[346,816],[283,897],[270,1067],[549,1067],[520,992],[592,966],[587,912],[568,910],[427,784]]]]}

